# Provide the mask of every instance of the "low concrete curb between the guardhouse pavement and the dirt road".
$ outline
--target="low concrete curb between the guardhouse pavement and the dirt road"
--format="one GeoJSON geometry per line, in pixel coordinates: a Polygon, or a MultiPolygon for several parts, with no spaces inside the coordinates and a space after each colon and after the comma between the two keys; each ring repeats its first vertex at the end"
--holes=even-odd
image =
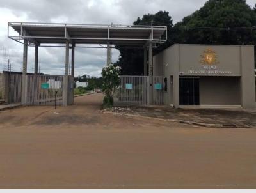
{"type": "Polygon", "coordinates": [[[109,112],[109,111],[105,111],[103,113],[104,114],[114,114],[114,115],[118,115],[118,116],[130,116],[130,117],[134,117],[134,118],[146,118],[148,120],[170,121],[170,122],[175,122],[175,123],[183,123],[183,124],[187,124],[187,125],[196,125],[196,126],[200,126],[200,127],[209,127],[209,128],[252,128],[252,127],[249,127],[248,125],[241,125],[241,127],[239,127],[237,125],[227,126],[227,125],[223,125],[223,124],[198,123],[195,121],[185,121],[185,120],[177,120],[177,119],[152,118],[149,116],[141,116],[141,115],[136,115],[136,114],[125,114],[125,113],[109,112]]]}

